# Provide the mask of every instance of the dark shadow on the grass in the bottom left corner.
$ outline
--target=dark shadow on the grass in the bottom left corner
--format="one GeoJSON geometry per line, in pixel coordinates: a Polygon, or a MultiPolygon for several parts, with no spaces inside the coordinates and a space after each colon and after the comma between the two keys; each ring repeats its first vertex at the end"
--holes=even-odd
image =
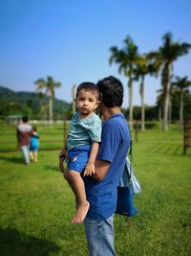
{"type": "Polygon", "coordinates": [[[35,238],[11,228],[0,228],[0,244],[0,255],[3,256],[48,256],[60,249],[45,239],[35,238]]]}

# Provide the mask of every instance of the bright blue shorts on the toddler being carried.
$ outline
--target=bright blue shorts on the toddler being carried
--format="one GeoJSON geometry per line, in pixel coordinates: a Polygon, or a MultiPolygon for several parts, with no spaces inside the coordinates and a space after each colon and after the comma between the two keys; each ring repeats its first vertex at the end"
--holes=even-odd
{"type": "Polygon", "coordinates": [[[68,170],[81,173],[89,159],[91,145],[78,146],[68,151],[68,170]]]}

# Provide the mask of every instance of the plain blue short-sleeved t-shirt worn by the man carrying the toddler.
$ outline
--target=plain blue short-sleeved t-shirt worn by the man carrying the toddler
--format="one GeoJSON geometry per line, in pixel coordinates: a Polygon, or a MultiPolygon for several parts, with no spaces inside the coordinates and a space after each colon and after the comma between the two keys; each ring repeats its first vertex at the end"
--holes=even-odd
{"type": "Polygon", "coordinates": [[[122,175],[130,144],[129,128],[124,116],[119,113],[103,122],[101,145],[96,159],[111,163],[101,181],[85,177],[85,188],[90,209],[87,219],[106,220],[117,207],[117,185],[122,175]]]}

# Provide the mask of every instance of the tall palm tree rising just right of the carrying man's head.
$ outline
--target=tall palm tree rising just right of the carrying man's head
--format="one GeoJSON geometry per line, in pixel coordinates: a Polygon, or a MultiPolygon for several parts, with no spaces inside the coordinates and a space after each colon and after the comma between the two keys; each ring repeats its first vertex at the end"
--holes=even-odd
{"type": "Polygon", "coordinates": [[[124,39],[124,48],[119,50],[117,46],[110,48],[112,52],[109,59],[110,64],[115,61],[119,64],[118,73],[123,71],[124,76],[129,78],[129,122],[130,128],[133,129],[133,72],[136,64],[142,62],[142,57],[138,55],[138,46],[130,36],[124,39]]]}

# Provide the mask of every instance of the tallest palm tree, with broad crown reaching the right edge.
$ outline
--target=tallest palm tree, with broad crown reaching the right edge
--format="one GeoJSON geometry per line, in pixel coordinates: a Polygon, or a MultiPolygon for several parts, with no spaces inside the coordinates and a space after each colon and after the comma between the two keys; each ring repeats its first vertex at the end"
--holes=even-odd
{"type": "Polygon", "coordinates": [[[163,129],[168,129],[168,104],[169,104],[169,88],[172,78],[173,63],[175,60],[185,54],[188,54],[191,44],[174,42],[171,33],[162,36],[163,45],[159,47],[158,52],[149,54],[154,59],[153,66],[156,70],[161,71],[161,85],[164,93],[163,103],[163,129]]]}

